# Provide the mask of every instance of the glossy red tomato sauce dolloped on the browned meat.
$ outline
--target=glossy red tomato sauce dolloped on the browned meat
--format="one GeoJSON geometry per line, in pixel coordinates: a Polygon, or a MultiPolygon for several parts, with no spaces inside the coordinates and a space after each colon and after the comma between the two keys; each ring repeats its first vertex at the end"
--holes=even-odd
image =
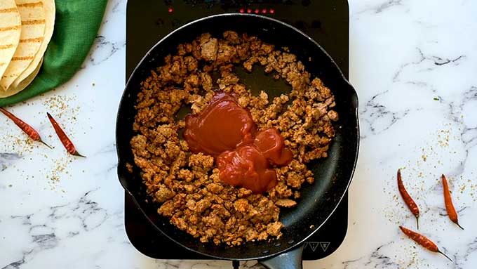
{"type": "Polygon", "coordinates": [[[184,139],[193,153],[216,157],[220,180],[265,192],[277,183],[275,166],[293,155],[277,129],[257,131],[250,112],[228,93],[216,93],[200,114],[185,118],[184,139]]]}

